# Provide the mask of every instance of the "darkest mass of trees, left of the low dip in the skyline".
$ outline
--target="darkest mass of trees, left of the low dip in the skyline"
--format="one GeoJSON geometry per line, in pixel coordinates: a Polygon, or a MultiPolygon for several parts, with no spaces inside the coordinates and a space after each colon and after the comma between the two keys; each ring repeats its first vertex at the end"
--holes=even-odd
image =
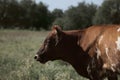
{"type": "Polygon", "coordinates": [[[33,0],[0,0],[0,27],[20,29],[48,29],[49,10],[45,4],[33,0]]]}

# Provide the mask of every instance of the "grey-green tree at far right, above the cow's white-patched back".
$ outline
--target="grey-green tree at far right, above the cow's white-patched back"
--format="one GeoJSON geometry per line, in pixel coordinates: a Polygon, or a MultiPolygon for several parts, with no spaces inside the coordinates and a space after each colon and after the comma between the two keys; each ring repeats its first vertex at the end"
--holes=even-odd
{"type": "Polygon", "coordinates": [[[120,24],[120,0],[104,0],[93,19],[94,24],[120,24]]]}

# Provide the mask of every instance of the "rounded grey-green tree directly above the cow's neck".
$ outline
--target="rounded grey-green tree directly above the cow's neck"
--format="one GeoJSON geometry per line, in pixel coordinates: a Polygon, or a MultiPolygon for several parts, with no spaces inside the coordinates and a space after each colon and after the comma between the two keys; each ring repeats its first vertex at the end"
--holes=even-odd
{"type": "Polygon", "coordinates": [[[79,29],[92,25],[97,6],[94,4],[79,3],[78,6],[71,6],[65,11],[63,18],[56,19],[64,29],[79,29]]]}

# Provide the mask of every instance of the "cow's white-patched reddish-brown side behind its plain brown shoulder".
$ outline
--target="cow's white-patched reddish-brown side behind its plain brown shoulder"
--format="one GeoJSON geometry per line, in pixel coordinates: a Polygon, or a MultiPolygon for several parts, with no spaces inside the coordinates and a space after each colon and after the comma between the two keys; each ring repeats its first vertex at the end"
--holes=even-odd
{"type": "Polygon", "coordinates": [[[95,48],[97,58],[103,61],[103,68],[120,71],[120,26],[104,27],[97,38],[95,48]]]}

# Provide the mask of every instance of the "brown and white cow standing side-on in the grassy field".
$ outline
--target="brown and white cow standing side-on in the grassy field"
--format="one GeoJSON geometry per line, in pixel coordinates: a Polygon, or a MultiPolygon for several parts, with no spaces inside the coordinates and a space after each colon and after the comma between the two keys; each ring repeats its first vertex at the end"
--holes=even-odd
{"type": "Polygon", "coordinates": [[[120,25],[63,31],[55,25],[35,56],[37,61],[63,60],[90,80],[118,80],[120,25]]]}

